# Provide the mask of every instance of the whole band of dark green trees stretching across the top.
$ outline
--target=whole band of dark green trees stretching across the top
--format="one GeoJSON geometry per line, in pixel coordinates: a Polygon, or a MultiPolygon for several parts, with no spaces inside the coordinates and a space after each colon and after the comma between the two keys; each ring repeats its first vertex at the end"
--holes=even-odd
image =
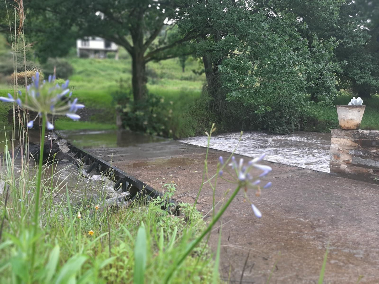
{"type": "Polygon", "coordinates": [[[184,70],[187,55],[200,58],[206,107],[230,130],[276,131],[257,126],[259,117],[296,101],[291,131],[310,116],[309,96],[331,105],[340,89],[361,97],[379,90],[373,1],[96,0],[75,3],[73,10],[68,2],[34,0],[25,7],[25,29],[42,61],[67,54],[85,36],[124,47],[132,59],[133,101],[141,108],[149,105],[148,77],[156,81],[147,62],[179,56],[184,70]],[[55,48],[57,37],[65,40],[55,48]]]}

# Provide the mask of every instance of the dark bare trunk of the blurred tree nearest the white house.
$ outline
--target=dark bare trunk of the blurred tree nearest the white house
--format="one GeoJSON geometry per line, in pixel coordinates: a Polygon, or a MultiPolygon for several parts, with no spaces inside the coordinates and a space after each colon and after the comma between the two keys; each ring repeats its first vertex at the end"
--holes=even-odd
{"type": "Polygon", "coordinates": [[[134,101],[143,101],[146,97],[146,62],[143,53],[132,54],[132,86],[134,101]]]}

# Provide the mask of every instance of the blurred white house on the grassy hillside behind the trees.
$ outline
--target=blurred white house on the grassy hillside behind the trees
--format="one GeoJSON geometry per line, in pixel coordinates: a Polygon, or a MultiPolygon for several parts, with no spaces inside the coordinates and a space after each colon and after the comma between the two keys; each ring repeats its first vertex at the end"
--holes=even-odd
{"type": "Polygon", "coordinates": [[[77,39],[76,52],[78,57],[106,58],[106,53],[115,52],[118,59],[118,46],[114,42],[101,37],[85,37],[77,39]]]}

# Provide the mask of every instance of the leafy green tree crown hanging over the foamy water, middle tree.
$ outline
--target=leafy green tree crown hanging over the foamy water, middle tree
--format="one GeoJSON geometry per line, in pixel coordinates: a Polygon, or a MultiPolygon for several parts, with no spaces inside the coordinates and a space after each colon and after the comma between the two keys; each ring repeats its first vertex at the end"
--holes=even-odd
{"type": "MultiPolygon", "coordinates": [[[[334,0],[310,1],[318,24],[336,18],[334,0]]],[[[335,95],[335,41],[308,33],[298,3],[282,1],[181,1],[177,12],[183,33],[199,31],[196,51],[204,62],[211,107],[230,115],[228,100],[264,111],[280,96],[335,95]]],[[[312,17],[313,18],[313,17],[312,17]]]]}

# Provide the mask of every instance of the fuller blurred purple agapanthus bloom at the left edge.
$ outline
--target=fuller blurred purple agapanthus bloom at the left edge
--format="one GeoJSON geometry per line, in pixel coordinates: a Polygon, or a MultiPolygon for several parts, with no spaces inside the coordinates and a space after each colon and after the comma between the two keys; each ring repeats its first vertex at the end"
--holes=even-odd
{"type": "MultiPolygon", "coordinates": [[[[72,120],[78,120],[80,116],[75,112],[84,108],[84,105],[77,103],[77,98],[73,101],[70,100],[72,92],[70,92],[68,86],[69,80],[61,85],[55,84],[55,76],[52,75],[49,75],[47,82],[45,80],[41,82],[39,73],[36,72],[35,77],[32,77],[32,83],[26,87],[25,94],[18,91],[18,98],[8,94],[8,97],[0,97],[0,101],[17,103],[20,108],[37,112],[40,117],[44,116],[46,128],[53,130],[54,126],[49,122],[48,114],[66,115],[72,120]]],[[[33,122],[36,118],[27,123],[28,128],[33,127],[33,122]]]]}

